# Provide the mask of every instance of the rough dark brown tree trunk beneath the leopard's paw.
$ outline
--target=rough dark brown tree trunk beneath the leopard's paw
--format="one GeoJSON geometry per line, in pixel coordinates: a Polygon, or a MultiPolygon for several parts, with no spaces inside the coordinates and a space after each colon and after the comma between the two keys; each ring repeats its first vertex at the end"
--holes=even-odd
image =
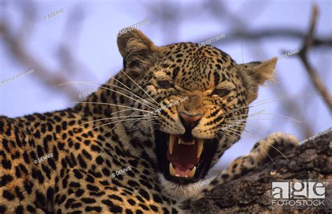
{"type": "Polygon", "coordinates": [[[188,206],[192,213],[332,213],[332,132],[289,149],[260,168],[219,185],[188,206]],[[272,206],[272,181],[325,182],[325,206],[272,206]]]}

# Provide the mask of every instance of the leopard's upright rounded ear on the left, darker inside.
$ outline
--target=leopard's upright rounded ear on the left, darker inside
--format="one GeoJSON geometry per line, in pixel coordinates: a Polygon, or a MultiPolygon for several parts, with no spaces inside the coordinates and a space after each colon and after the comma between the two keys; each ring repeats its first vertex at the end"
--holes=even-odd
{"type": "Polygon", "coordinates": [[[151,56],[157,46],[138,29],[126,29],[124,34],[118,34],[117,42],[123,56],[123,70],[134,78],[141,76],[141,72],[151,64],[151,56]]]}

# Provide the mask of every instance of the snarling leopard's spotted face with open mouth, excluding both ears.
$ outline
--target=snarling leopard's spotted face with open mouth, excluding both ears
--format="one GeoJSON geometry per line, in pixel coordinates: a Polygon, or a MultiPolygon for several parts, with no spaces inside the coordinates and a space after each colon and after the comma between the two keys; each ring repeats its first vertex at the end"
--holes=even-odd
{"type": "Polygon", "coordinates": [[[160,48],[159,56],[144,78],[148,91],[165,106],[157,111],[159,165],[166,180],[196,182],[214,164],[214,156],[239,139],[243,126],[237,135],[233,128],[221,129],[227,119],[247,114],[246,91],[235,62],[217,48],[172,44],[160,48]],[[228,142],[219,142],[223,135],[228,142]]]}

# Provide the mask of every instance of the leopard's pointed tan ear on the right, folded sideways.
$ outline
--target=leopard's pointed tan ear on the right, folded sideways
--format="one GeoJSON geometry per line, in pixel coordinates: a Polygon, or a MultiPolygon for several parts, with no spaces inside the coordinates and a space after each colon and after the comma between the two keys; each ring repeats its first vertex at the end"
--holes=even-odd
{"type": "Polygon", "coordinates": [[[277,58],[263,62],[249,62],[239,65],[240,75],[247,91],[247,104],[256,100],[258,93],[258,86],[263,85],[265,81],[275,81],[275,65],[277,58]]]}

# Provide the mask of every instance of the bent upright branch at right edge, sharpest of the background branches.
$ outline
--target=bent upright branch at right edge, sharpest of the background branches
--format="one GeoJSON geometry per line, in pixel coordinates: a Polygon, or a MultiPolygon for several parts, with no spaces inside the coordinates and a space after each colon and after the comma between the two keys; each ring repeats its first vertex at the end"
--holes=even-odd
{"type": "Polygon", "coordinates": [[[303,62],[303,65],[306,68],[307,74],[309,74],[310,79],[314,86],[317,88],[321,96],[324,98],[324,102],[326,102],[326,105],[332,111],[332,97],[328,93],[324,82],[321,81],[319,78],[316,69],[310,65],[310,62],[307,58],[307,52],[309,49],[312,47],[313,43],[313,38],[314,38],[314,28],[316,27],[316,22],[317,22],[317,16],[318,16],[318,7],[316,5],[313,6],[312,8],[312,17],[310,20],[310,27],[307,32],[307,36],[305,36],[305,39],[303,39],[303,46],[300,49],[300,52],[298,53],[298,56],[300,57],[300,60],[303,62]]]}

